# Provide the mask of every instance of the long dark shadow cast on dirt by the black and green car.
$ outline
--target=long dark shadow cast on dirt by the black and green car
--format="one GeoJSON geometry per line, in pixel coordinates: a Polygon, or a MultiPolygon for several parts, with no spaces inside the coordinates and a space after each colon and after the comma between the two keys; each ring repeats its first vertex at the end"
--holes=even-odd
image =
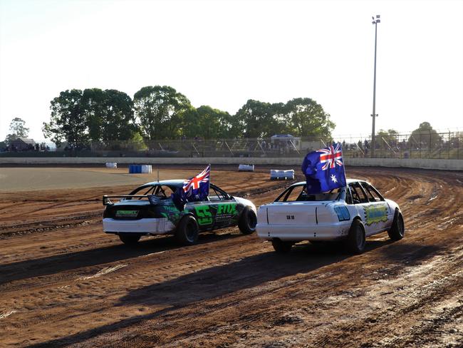
{"type": "MultiPolygon", "coordinates": [[[[241,234],[237,233],[222,235],[204,233],[199,235],[198,244],[201,245],[241,236],[241,234]]],[[[183,246],[180,245],[174,237],[165,236],[147,240],[142,239],[135,246],[123,245],[121,242],[120,245],[111,245],[109,247],[100,247],[92,250],[69,252],[62,255],[12,262],[6,265],[0,265],[0,285],[14,280],[53,275],[58,272],[126,260],[132,257],[148,255],[153,252],[175,250],[180,247],[183,246]]]]}

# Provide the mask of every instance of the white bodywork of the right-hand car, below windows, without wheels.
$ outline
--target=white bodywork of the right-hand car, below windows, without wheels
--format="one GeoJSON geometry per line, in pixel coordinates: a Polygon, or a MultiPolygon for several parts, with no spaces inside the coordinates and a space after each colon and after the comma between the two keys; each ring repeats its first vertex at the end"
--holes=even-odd
{"type": "Polygon", "coordinates": [[[343,199],[274,202],[259,208],[256,231],[264,240],[337,240],[348,236],[350,225],[358,218],[368,237],[388,230],[398,208],[392,200],[357,204],[347,204],[343,199]],[[340,217],[335,209],[348,214],[340,217]]]}

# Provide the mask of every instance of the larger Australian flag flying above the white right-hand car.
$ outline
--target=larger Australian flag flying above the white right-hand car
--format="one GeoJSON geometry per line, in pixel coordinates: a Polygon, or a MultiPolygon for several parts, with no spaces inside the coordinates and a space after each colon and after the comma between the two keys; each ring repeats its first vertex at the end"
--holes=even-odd
{"type": "Polygon", "coordinates": [[[343,148],[340,143],[308,153],[301,169],[306,175],[307,193],[322,193],[345,186],[343,148]]]}

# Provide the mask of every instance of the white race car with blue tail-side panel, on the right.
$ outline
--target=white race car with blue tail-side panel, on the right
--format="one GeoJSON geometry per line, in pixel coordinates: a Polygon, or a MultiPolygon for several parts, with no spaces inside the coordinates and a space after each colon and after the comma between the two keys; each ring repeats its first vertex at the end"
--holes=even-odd
{"type": "Polygon", "coordinates": [[[306,182],[289,186],[274,203],[257,212],[257,235],[271,240],[276,252],[289,252],[296,242],[345,240],[350,252],[365,249],[365,237],[387,231],[400,240],[405,225],[399,205],[363,180],[327,193],[307,194],[306,182]]]}

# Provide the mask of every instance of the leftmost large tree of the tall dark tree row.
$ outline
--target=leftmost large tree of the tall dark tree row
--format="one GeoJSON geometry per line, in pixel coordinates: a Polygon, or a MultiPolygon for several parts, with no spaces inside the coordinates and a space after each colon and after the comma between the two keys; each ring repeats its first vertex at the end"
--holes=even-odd
{"type": "Polygon", "coordinates": [[[88,143],[88,126],[83,108],[83,93],[79,89],[66,90],[51,101],[51,119],[43,122],[43,135],[58,146],[63,140],[71,148],[88,143]]]}

